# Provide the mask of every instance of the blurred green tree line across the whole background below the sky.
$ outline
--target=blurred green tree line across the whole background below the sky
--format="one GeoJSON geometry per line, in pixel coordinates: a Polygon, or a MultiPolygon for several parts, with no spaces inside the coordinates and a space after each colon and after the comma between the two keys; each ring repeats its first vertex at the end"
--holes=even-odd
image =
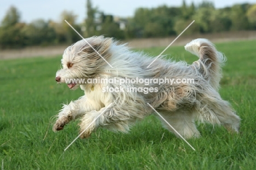
{"type": "Polygon", "coordinates": [[[26,24],[20,16],[15,7],[7,11],[0,25],[0,48],[71,44],[80,40],[65,20],[84,37],[104,34],[117,39],[178,35],[193,20],[184,34],[256,30],[256,4],[248,3],[216,9],[208,1],[189,5],[183,1],[181,7],[138,8],[133,17],[119,18],[104,14],[87,0],[87,17],[82,24],[77,24],[77,16],[70,11],[62,12],[61,22],[38,19],[26,24]]]}

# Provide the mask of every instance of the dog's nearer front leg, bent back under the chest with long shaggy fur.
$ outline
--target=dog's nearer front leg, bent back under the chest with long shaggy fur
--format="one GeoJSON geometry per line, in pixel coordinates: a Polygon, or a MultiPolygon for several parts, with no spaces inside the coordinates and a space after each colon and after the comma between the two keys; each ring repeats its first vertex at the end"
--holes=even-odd
{"type": "Polygon", "coordinates": [[[88,138],[91,133],[96,131],[98,127],[107,128],[110,131],[128,132],[130,125],[136,120],[141,120],[148,115],[147,105],[144,108],[138,103],[131,107],[129,105],[116,104],[110,105],[109,108],[103,107],[100,110],[92,110],[83,115],[80,126],[80,138],[88,138]]]}

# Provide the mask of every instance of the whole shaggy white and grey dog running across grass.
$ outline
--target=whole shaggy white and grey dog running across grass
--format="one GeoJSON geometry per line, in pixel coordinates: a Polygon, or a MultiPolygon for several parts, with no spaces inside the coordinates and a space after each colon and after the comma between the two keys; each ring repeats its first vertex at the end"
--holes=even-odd
{"type": "MultiPolygon", "coordinates": [[[[81,138],[89,137],[98,127],[127,132],[134,122],[154,113],[147,103],[158,110],[184,138],[200,137],[196,120],[224,125],[228,131],[239,131],[239,116],[218,93],[225,57],[207,39],[195,39],[185,46],[187,51],[199,57],[192,65],[162,57],[152,63],[154,58],[131,51],[112,38],[91,37],[86,41],[80,40],[65,50],[62,69],[56,73],[58,83],[66,83],[68,79],[85,80],[83,84],[76,81],[67,83],[69,89],[80,86],[85,95],[68,105],[63,104],[54,131],[62,130],[69,121],[80,118],[80,132],[86,129],[81,138]],[[152,65],[148,67],[150,63],[152,65]],[[194,83],[160,84],[151,81],[143,84],[128,81],[136,78],[194,79],[194,83]],[[92,79],[116,81],[88,81],[92,79]],[[124,79],[127,81],[120,84],[124,79]],[[130,87],[137,91],[129,91],[130,87]],[[145,91],[150,87],[153,88],[151,91],[145,91]],[[121,90],[106,91],[111,88],[121,90]],[[110,103],[112,105],[108,107],[110,103]]],[[[165,121],[160,120],[165,128],[176,134],[165,121]]]]}

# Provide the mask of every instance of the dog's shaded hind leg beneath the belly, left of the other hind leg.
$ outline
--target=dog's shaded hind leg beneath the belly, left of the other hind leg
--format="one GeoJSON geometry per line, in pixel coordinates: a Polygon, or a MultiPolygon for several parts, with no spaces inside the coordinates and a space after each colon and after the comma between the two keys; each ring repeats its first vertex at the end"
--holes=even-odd
{"type": "MultiPolygon", "coordinates": [[[[160,115],[184,138],[199,138],[200,132],[195,125],[195,114],[188,110],[179,109],[176,112],[164,111],[160,115]]],[[[160,116],[162,125],[169,131],[180,137],[160,116]]]]}

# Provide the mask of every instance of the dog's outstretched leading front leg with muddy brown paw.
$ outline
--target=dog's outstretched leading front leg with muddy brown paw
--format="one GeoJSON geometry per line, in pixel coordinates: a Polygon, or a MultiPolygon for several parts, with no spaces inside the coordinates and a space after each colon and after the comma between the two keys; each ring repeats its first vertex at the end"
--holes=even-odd
{"type": "Polygon", "coordinates": [[[64,126],[69,121],[75,120],[85,113],[95,110],[95,106],[90,104],[85,96],[79,98],[76,101],[70,102],[68,105],[63,104],[59,114],[57,114],[57,120],[53,126],[53,131],[63,130],[64,126]]]}

